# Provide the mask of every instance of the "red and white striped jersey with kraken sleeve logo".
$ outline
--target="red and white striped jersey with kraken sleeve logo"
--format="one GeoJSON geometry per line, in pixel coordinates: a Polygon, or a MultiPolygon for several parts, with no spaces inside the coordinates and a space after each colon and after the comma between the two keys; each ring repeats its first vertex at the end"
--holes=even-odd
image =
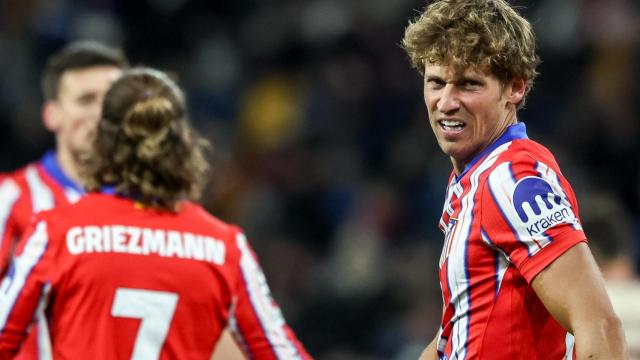
{"type": "Polygon", "coordinates": [[[586,238],[571,186],[523,123],[451,175],[439,226],[440,359],[573,357],[531,282],[586,238]]]}

